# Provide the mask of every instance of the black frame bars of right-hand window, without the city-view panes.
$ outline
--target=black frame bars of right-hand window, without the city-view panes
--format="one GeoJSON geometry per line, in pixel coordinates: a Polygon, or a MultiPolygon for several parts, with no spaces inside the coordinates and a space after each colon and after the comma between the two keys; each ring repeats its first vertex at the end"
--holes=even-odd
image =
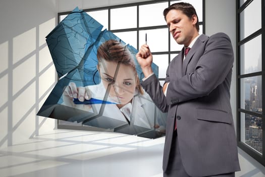
{"type": "MultiPolygon", "coordinates": [[[[252,34],[246,36],[242,40],[240,39],[240,13],[245,10],[245,8],[248,7],[254,0],[247,0],[245,3],[243,3],[240,6],[240,0],[236,1],[236,89],[237,89],[237,96],[236,96],[236,104],[237,104],[237,144],[240,149],[245,151],[248,155],[253,157],[255,160],[257,160],[259,163],[261,163],[263,166],[265,166],[265,92],[263,91],[265,88],[265,3],[264,1],[261,1],[261,28],[253,32],[252,34]],[[256,36],[261,35],[261,71],[258,72],[252,72],[252,73],[246,73],[241,74],[241,53],[240,53],[240,47],[244,45],[246,42],[250,41],[251,39],[255,38],[256,36]],[[264,51],[264,52],[263,52],[264,51]],[[240,80],[247,77],[254,77],[254,76],[261,76],[261,99],[262,99],[262,113],[257,113],[253,111],[249,111],[246,109],[241,108],[241,82],[240,80]],[[248,146],[246,143],[243,143],[241,141],[241,113],[250,114],[253,116],[261,117],[262,120],[262,154],[258,153],[256,150],[248,146]]],[[[244,131],[245,132],[245,131],[244,131]]]]}

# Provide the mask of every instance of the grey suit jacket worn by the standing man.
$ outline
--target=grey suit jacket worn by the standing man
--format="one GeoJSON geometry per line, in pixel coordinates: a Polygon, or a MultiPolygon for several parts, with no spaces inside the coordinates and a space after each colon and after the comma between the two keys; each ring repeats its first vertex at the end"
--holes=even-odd
{"type": "Polygon", "coordinates": [[[240,170],[230,105],[234,55],[224,33],[202,34],[183,61],[184,49],[170,63],[167,97],[155,75],[142,81],[153,102],[168,112],[163,169],[169,161],[174,121],[181,159],[191,176],[240,170]]]}

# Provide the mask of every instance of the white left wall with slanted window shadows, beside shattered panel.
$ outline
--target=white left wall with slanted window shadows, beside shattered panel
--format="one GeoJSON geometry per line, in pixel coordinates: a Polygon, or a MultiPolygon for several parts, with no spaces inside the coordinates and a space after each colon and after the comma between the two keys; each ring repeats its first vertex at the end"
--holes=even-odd
{"type": "Polygon", "coordinates": [[[57,11],[55,0],[0,2],[0,148],[55,127],[36,113],[56,81],[45,36],[57,11]]]}

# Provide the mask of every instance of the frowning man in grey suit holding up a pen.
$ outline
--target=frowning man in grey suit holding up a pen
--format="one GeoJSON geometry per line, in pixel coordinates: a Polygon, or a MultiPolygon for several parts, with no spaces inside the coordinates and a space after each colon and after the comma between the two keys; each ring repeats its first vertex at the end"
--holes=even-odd
{"type": "Polygon", "coordinates": [[[198,17],[188,3],[164,10],[170,33],[182,51],[171,61],[164,86],[151,70],[143,45],[136,55],[144,90],[168,112],[164,176],[235,176],[240,170],[230,105],[233,49],[225,33],[199,34],[198,17]]]}

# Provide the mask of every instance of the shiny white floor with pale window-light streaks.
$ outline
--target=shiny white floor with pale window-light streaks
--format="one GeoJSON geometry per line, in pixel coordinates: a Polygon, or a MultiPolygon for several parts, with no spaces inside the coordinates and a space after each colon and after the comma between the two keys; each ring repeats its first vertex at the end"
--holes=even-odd
{"type": "MultiPolygon", "coordinates": [[[[162,177],[164,141],[107,132],[54,130],[0,149],[0,176],[162,177]]],[[[239,150],[242,170],[236,176],[265,176],[263,166],[251,164],[243,156],[239,150]]]]}

